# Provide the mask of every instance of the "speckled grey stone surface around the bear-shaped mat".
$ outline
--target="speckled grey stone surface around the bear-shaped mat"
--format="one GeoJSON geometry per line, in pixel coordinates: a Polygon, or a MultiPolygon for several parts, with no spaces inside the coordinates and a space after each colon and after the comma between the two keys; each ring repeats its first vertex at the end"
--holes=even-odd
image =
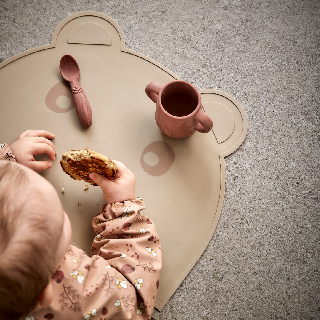
{"type": "Polygon", "coordinates": [[[294,0],[0,0],[0,61],[49,44],[71,13],[99,11],[120,25],[127,48],[244,107],[248,133],[226,158],[216,231],[156,320],[320,319],[319,9],[294,0]]]}

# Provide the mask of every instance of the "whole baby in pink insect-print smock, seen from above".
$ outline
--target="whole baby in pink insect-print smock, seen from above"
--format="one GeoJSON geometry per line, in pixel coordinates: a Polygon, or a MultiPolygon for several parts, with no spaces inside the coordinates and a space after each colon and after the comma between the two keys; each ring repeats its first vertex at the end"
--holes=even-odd
{"type": "Polygon", "coordinates": [[[60,198],[35,172],[52,166],[34,155],[54,160],[53,137],[28,130],[11,147],[0,145],[1,319],[150,319],[162,250],[153,222],[140,212],[142,199],[134,197],[133,173],[113,160],[112,181],[90,174],[107,204],[93,218],[88,257],[69,244],[60,198]]]}

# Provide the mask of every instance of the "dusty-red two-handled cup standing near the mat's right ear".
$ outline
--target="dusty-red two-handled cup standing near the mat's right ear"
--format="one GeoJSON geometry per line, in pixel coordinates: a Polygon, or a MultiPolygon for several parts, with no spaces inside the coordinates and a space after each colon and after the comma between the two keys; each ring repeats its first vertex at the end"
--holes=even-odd
{"type": "Polygon", "coordinates": [[[181,139],[212,129],[212,120],[202,110],[200,94],[192,84],[182,80],[165,85],[150,82],[146,93],[156,103],[156,124],[167,136],[181,139]]]}

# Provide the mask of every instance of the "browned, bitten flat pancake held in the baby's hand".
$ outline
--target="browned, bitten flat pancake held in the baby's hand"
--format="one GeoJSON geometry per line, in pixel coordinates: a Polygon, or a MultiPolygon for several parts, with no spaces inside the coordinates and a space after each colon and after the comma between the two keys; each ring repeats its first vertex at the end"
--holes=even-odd
{"type": "Polygon", "coordinates": [[[62,154],[61,167],[74,180],[84,180],[93,186],[97,184],[89,178],[91,172],[99,173],[106,178],[113,178],[117,171],[116,164],[99,152],[83,149],[70,150],[62,154]]]}

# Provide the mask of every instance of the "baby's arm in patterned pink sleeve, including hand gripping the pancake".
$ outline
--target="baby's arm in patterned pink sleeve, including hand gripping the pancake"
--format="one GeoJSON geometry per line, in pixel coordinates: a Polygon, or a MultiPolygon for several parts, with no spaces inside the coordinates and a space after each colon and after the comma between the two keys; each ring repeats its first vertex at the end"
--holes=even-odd
{"type": "MultiPolygon", "coordinates": [[[[135,289],[135,313],[150,319],[162,268],[161,244],[152,220],[140,212],[145,208],[142,199],[134,199],[133,173],[121,162],[115,162],[118,170],[112,181],[90,175],[108,203],[93,219],[95,238],[91,254],[108,260],[109,267],[121,273],[121,277],[116,276],[116,284],[135,289]]],[[[127,309],[122,295],[118,301],[127,309]]]]}

